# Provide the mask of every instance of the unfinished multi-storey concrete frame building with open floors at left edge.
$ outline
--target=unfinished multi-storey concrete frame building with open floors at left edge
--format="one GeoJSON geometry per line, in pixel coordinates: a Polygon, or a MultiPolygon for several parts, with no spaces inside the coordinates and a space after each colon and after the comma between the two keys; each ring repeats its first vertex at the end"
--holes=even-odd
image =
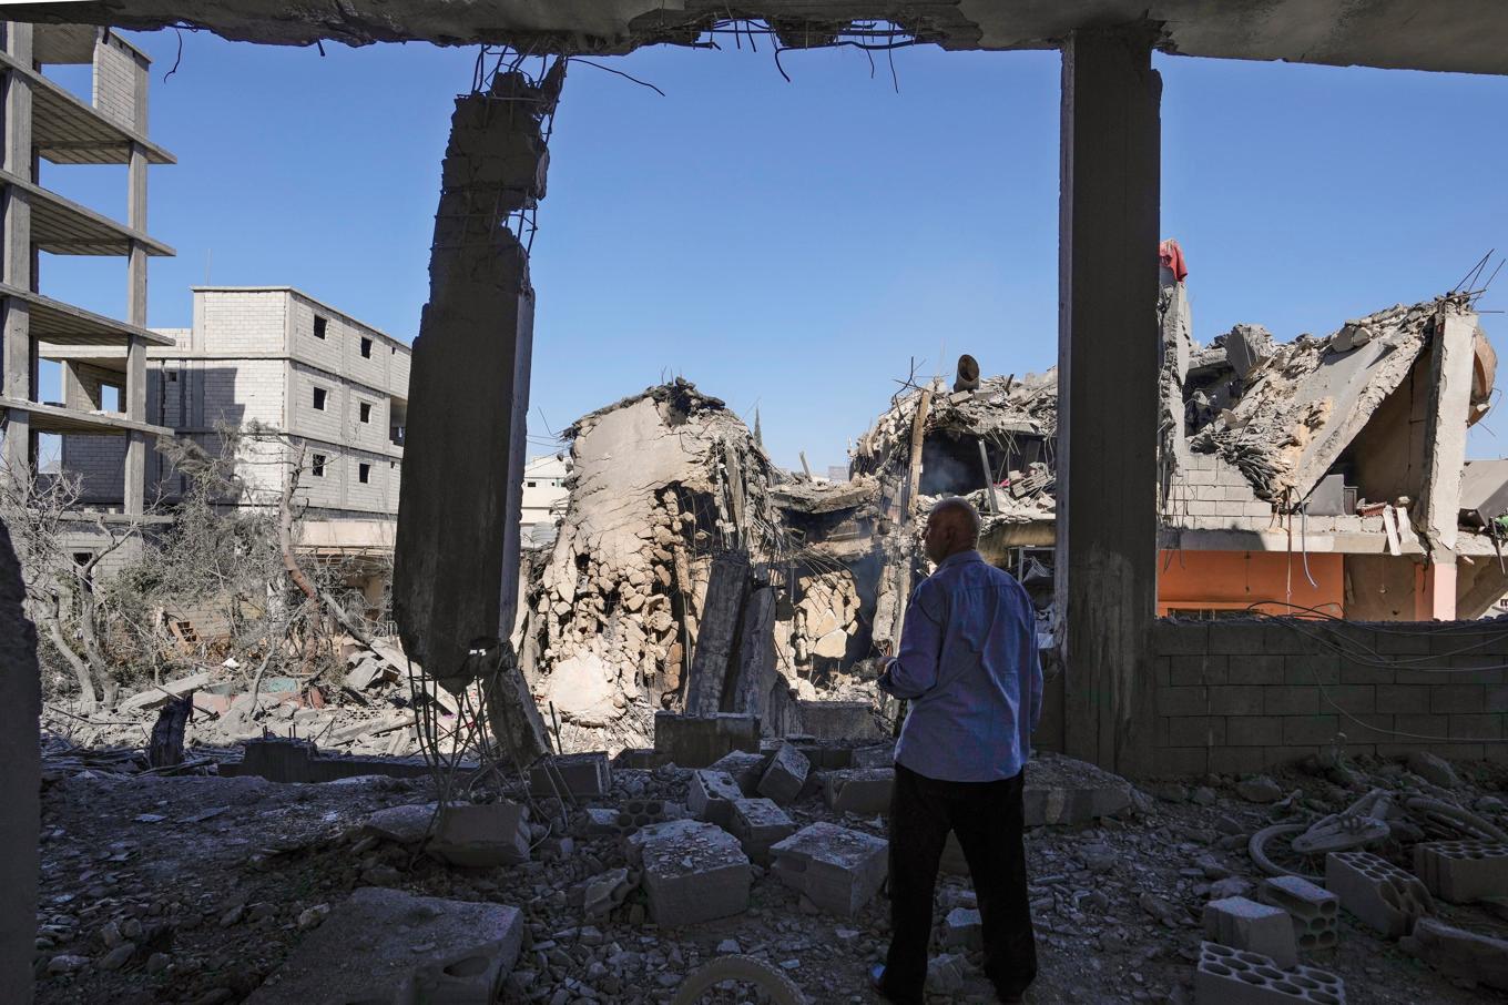
{"type": "Polygon", "coordinates": [[[92,26],[5,24],[5,460],[35,471],[39,435],[80,438],[81,450],[115,472],[86,486],[81,502],[139,516],[157,436],[170,433],[148,410],[146,353],[172,340],[146,327],[146,263],[172,249],[146,234],[146,172],[172,154],[146,136],[148,66],[134,45],[92,26]],[[92,100],[83,101],[45,75],[48,66],[92,66],[92,100]],[[128,219],[113,220],[38,184],[39,163],[125,164],[128,219]],[[42,293],[50,255],[125,260],[127,317],[103,317],[42,293]],[[42,347],[104,347],[107,367],[65,367],[63,400],[42,401],[42,347]]]}

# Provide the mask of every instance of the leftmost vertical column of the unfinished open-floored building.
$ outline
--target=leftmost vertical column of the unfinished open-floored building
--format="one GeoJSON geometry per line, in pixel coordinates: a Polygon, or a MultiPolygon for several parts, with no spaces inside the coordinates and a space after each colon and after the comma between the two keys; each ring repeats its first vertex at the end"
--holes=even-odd
{"type": "MultiPolygon", "coordinates": [[[[32,65],[32,26],[11,21],[5,26],[6,54],[23,66],[32,65]]],[[[5,74],[5,169],[21,178],[32,172],[32,83],[21,74],[5,74]]],[[[32,205],[24,192],[5,190],[3,247],[0,247],[0,279],[18,290],[32,288],[32,205]]],[[[3,395],[23,401],[35,400],[35,370],[32,352],[30,308],[12,297],[0,308],[0,370],[3,395]]],[[[32,465],[30,413],[9,410],[5,435],[5,466],[21,472],[32,465]]]]}

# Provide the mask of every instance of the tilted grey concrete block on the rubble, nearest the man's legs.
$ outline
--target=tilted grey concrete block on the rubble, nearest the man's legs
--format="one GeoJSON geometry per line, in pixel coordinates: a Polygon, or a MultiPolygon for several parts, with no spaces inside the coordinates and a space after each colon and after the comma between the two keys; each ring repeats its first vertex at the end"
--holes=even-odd
{"type": "Polygon", "coordinates": [[[808,824],[771,848],[771,872],[822,910],[854,916],[885,883],[888,850],[872,834],[808,824]]]}

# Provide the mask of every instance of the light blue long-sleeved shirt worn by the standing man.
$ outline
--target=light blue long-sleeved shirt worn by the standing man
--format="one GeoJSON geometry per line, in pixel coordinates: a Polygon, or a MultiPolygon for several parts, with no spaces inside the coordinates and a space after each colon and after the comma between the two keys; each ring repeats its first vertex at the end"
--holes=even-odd
{"type": "Polygon", "coordinates": [[[1027,592],[977,551],[949,555],[911,595],[879,687],[911,702],[899,764],[944,782],[1015,776],[1042,714],[1027,592]]]}

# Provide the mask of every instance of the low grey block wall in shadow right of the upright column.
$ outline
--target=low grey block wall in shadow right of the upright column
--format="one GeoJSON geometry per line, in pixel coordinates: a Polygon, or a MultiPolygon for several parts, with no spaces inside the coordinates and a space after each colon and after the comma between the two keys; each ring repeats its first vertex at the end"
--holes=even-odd
{"type": "Polygon", "coordinates": [[[1338,742],[1508,762],[1484,742],[1508,738],[1508,623],[1160,620],[1154,652],[1158,774],[1261,771],[1338,742]]]}

